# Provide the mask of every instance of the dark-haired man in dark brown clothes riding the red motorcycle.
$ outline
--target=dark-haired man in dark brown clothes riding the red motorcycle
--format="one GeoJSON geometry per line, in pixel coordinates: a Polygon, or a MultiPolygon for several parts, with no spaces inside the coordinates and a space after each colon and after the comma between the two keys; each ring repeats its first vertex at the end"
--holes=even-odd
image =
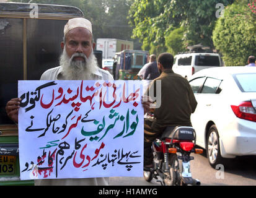
{"type": "Polygon", "coordinates": [[[156,106],[159,106],[154,109],[154,119],[144,119],[145,168],[153,168],[151,145],[167,126],[192,126],[190,115],[195,111],[197,102],[187,79],[172,71],[173,64],[172,54],[160,54],[157,67],[161,75],[149,84],[148,90],[144,93],[144,113],[150,110],[154,101],[157,103],[156,106]],[[158,86],[161,92],[157,90],[159,82],[161,82],[161,86],[158,86]],[[156,94],[157,92],[159,95],[156,94]]]}

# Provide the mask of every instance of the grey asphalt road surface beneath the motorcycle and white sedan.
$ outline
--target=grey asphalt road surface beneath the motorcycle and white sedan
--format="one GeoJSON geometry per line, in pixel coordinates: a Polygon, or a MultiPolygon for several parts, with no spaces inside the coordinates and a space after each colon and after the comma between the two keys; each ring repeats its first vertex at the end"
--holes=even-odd
{"type": "MultiPolygon", "coordinates": [[[[256,157],[237,157],[228,160],[228,165],[220,168],[211,168],[206,158],[206,153],[192,155],[195,160],[191,161],[192,176],[201,181],[201,186],[256,186],[256,157]]],[[[144,178],[110,178],[111,186],[159,186],[152,179],[148,183],[144,178]]]]}

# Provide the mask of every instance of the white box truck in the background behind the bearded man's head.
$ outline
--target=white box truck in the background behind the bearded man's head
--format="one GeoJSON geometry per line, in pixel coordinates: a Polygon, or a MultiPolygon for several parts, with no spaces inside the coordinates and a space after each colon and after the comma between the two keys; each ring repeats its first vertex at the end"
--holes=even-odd
{"type": "Polygon", "coordinates": [[[113,59],[115,53],[125,49],[133,49],[133,41],[115,38],[98,38],[96,49],[102,51],[102,59],[113,59]]]}

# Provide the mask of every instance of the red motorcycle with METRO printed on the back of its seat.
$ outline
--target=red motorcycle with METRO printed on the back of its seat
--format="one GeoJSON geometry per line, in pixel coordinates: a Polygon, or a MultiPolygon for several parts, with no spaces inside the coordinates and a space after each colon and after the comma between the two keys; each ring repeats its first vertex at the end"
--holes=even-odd
{"type": "Polygon", "coordinates": [[[191,153],[203,153],[195,149],[196,134],[193,127],[167,127],[159,139],[152,143],[154,168],[144,168],[144,179],[150,182],[152,178],[162,186],[200,186],[198,179],[192,178],[190,161],[191,153]]]}

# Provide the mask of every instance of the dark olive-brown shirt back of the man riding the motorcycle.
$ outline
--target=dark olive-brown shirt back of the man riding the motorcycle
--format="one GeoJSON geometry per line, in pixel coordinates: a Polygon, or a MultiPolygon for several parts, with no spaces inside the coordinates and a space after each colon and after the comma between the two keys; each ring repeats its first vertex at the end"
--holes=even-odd
{"type": "Polygon", "coordinates": [[[191,126],[190,115],[195,111],[196,101],[187,79],[169,69],[154,82],[157,80],[161,80],[161,106],[154,110],[156,123],[191,126]]]}

